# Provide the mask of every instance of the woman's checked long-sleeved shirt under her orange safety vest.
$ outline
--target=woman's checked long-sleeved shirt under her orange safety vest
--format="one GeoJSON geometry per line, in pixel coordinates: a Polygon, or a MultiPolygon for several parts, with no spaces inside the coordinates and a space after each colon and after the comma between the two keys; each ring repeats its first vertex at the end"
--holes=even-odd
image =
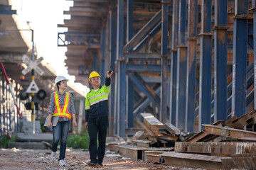
{"type": "MultiPolygon", "coordinates": [[[[64,92],[64,94],[60,94],[60,92],[58,91],[60,108],[63,108],[64,101],[65,101],[65,93],[66,92],[64,92]]],[[[54,111],[55,111],[55,101],[54,101],[54,93],[53,93],[50,96],[50,103],[49,103],[49,106],[48,106],[48,114],[53,115],[54,111]]],[[[74,107],[74,101],[73,101],[72,94],[70,94],[70,102],[68,104],[68,112],[71,113],[71,114],[75,114],[75,107],[74,107]]],[[[69,119],[65,118],[65,117],[60,117],[59,118],[60,122],[61,121],[68,121],[68,120],[69,119]]]]}

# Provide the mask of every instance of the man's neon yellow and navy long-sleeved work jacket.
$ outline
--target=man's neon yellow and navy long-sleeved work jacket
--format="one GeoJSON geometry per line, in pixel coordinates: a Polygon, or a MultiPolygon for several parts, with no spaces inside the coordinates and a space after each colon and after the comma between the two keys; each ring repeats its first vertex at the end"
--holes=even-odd
{"type": "Polygon", "coordinates": [[[105,79],[105,85],[97,91],[90,90],[85,98],[85,122],[92,118],[109,115],[108,95],[110,94],[110,78],[105,79]]]}

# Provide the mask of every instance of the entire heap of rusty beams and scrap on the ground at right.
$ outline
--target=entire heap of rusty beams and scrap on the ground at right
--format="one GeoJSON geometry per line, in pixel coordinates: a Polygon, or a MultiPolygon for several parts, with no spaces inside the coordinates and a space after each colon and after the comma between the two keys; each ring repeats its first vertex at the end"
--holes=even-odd
{"type": "Polygon", "coordinates": [[[190,168],[256,167],[256,111],[204,125],[205,130],[193,136],[170,123],[161,123],[150,113],[141,115],[144,131],[134,135],[132,145],[116,147],[117,153],[133,160],[190,168]]]}

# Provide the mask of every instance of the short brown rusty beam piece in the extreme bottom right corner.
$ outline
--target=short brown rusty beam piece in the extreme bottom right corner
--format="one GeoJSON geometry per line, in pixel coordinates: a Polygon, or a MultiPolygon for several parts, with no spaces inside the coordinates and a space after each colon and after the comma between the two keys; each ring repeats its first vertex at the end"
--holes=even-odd
{"type": "Polygon", "coordinates": [[[225,169],[255,169],[256,157],[223,158],[225,169]]]}

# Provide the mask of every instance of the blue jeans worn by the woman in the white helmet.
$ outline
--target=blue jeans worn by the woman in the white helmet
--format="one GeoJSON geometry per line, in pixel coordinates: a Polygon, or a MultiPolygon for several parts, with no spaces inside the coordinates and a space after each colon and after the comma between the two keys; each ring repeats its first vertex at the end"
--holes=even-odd
{"type": "Polygon", "coordinates": [[[70,120],[58,122],[55,127],[53,127],[53,147],[52,151],[56,152],[58,147],[58,142],[60,140],[60,158],[65,158],[65,150],[67,147],[67,138],[68,138],[68,130],[70,126],[70,120]]]}

